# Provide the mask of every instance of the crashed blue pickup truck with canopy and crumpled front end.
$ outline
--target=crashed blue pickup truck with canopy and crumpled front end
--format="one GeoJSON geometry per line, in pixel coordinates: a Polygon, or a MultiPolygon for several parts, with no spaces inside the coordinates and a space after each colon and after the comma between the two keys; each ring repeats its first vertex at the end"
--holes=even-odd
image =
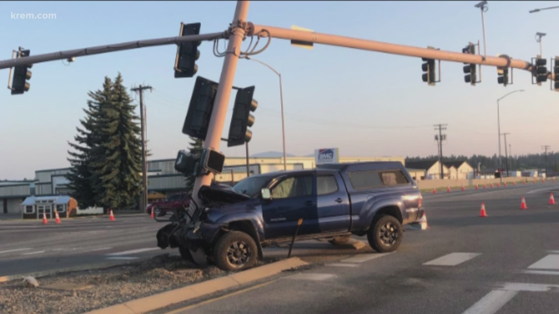
{"type": "MultiPolygon", "coordinates": [[[[378,252],[396,250],[402,225],[423,216],[421,193],[401,163],[380,161],[319,165],[245,178],[234,187],[214,184],[158,231],[158,246],[179,248],[224,270],[252,267],[262,248],[296,241],[347,242],[367,235],[378,252]],[[201,254],[200,254],[201,253],[201,254]]],[[[196,259],[195,259],[196,260],[196,259]]]]}

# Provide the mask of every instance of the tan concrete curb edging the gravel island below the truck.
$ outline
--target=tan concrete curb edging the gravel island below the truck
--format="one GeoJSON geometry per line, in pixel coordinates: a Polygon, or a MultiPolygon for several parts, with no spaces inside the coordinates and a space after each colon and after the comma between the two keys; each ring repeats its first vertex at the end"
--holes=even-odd
{"type": "Polygon", "coordinates": [[[278,274],[283,270],[307,265],[299,258],[290,258],[276,263],[263,265],[257,268],[245,270],[244,272],[234,273],[225,277],[206,280],[196,284],[191,284],[183,288],[174,289],[167,292],[154,294],[153,296],[139,298],[119,305],[113,305],[99,310],[93,310],[85,314],[141,314],[158,310],[179,302],[191,300],[193,298],[205,296],[228,288],[233,288],[278,274]]]}

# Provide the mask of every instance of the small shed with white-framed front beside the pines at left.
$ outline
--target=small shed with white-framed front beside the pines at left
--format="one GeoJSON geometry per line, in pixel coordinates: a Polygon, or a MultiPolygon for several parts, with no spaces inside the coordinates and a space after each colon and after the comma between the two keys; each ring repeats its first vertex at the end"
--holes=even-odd
{"type": "Polygon", "coordinates": [[[60,196],[30,196],[21,203],[22,218],[47,219],[54,218],[54,211],[60,218],[75,216],[78,202],[67,195],[60,196]]]}

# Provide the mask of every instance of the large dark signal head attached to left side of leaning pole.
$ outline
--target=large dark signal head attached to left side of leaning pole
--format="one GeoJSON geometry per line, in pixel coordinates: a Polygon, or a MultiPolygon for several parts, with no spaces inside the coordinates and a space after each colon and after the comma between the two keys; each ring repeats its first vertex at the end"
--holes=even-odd
{"type": "Polygon", "coordinates": [[[203,77],[196,78],[190,105],[182,127],[184,134],[201,140],[206,139],[218,85],[218,83],[203,77]]]}

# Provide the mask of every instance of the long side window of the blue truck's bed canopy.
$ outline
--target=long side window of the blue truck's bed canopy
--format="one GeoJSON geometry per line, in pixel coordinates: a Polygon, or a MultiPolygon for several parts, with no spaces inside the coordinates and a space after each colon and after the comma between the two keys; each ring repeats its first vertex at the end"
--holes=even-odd
{"type": "Polygon", "coordinates": [[[409,184],[409,180],[402,170],[363,170],[348,173],[349,182],[353,189],[366,190],[381,187],[393,187],[409,184]]]}

